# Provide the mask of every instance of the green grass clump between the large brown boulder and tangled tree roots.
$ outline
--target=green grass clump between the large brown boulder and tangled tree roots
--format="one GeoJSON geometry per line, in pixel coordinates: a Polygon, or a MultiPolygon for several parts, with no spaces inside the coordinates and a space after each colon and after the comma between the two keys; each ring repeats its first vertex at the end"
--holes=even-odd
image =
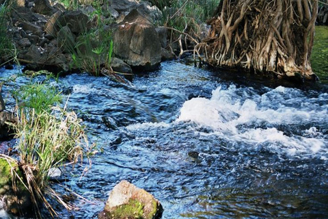
{"type": "Polygon", "coordinates": [[[161,8],[163,19],[159,25],[168,27],[168,37],[171,51],[180,47],[179,57],[185,51],[193,51],[206,34],[205,23],[212,18],[220,0],[172,0],[151,1],[161,8]]]}

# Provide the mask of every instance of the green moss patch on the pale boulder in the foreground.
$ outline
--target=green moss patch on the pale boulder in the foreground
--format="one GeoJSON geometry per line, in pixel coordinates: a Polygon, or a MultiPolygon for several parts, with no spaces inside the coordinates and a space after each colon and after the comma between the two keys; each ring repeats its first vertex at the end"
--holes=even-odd
{"type": "Polygon", "coordinates": [[[131,199],[127,204],[121,205],[111,212],[107,212],[107,218],[120,219],[146,219],[143,218],[143,204],[131,199]]]}

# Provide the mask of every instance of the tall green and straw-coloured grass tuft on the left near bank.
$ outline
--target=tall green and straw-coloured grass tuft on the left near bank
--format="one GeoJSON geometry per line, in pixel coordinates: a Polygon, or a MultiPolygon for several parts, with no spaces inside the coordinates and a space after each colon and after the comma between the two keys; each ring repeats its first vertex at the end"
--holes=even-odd
{"type": "Polygon", "coordinates": [[[57,216],[48,198],[55,199],[67,209],[71,206],[61,194],[51,188],[49,170],[67,162],[83,159],[88,149],[87,136],[77,114],[59,107],[61,100],[55,88],[32,83],[15,93],[18,105],[17,123],[11,124],[18,140],[18,165],[23,172],[25,187],[31,194],[36,214],[41,218],[43,205],[51,216],[57,216]]]}

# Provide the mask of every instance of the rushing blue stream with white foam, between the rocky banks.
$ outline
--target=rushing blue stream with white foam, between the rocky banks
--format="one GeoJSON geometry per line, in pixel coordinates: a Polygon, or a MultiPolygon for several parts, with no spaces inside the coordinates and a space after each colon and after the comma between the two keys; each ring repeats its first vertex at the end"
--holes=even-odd
{"type": "Polygon", "coordinates": [[[272,83],[180,62],[131,85],[53,81],[101,149],[84,177],[66,173],[92,203],[77,198],[60,217],[97,218],[126,179],[159,199],[166,219],[328,218],[328,86],[272,83]]]}

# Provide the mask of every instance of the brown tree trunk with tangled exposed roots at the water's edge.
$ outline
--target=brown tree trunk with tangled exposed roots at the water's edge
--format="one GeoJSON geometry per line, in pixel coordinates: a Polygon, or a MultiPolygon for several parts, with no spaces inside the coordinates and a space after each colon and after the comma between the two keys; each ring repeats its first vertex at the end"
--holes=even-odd
{"type": "Polygon", "coordinates": [[[310,65],[316,0],[221,0],[202,44],[213,66],[316,79],[310,65]]]}

